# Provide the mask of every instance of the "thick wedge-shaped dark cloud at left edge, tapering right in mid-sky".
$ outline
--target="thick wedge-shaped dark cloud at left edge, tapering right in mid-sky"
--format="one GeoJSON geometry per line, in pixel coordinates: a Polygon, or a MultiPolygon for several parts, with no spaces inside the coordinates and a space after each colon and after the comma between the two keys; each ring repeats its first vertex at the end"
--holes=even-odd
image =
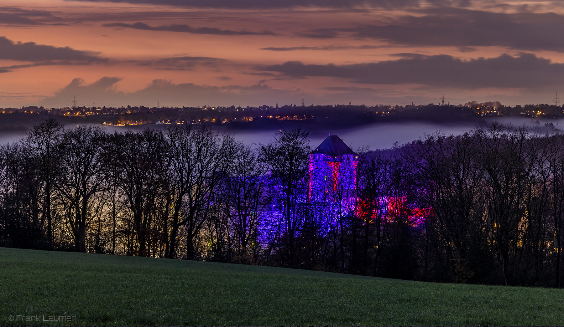
{"type": "Polygon", "coordinates": [[[12,42],[6,37],[0,37],[0,59],[18,61],[105,61],[105,59],[97,57],[95,52],[74,50],[70,47],[46,46],[35,42],[12,42]]]}

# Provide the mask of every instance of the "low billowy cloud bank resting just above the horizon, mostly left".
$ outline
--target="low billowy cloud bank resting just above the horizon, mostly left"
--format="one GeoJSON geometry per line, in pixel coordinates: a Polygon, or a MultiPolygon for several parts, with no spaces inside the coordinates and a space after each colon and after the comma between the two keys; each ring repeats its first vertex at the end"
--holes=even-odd
{"type": "MultiPolygon", "coordinates": [[[[218,79],[226,80],[224,77],[218,79]]],[[[94,83],[87,84],[80,78],[75,78],[67,86],[47,97],[37,105],[65,106],[70,105],[72,98],[77,97],[81,105],[122,106],[146,105],[155,106],[160,100],[166,106],[259,106],[282,104],[299,104],[305,97],[307,104],[342,104],[352,101],[353,104],[376,104],[415,101],[429,103],[429,98],[397,94],[390,96],[378,95],[378,89],[358,87],[325,88],[327,93],[313,95],[301,89],[276,89],[267,84],[240,86],[237,84],[224,86],[197,85],[193,83],[176,84],[170,80],[155,79],[146,87],[135,92],[117,90],[116,83],[121,78],[104,77],[94,83]]]]}

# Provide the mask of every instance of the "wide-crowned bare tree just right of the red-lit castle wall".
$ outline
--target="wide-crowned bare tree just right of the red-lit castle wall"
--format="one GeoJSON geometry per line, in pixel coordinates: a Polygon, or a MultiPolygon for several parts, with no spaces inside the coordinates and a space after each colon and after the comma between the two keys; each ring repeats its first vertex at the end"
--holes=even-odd
{"type": "MultiPolygon", "coordinates": [[[[477,150],[470,133],[445,136],[428,135],[416,141],[406,151],[408,169],[421,196],[421,205],[428,205],[438,219],[438,228],[451,274],[459,281],[472,275],[468,263],[470,229],[487,226],[473,224],[475,204],[481,190],[481,174],[475,162],[477,150]]],[[[430,231],[429,231],[430,232],[430,231]]]]}

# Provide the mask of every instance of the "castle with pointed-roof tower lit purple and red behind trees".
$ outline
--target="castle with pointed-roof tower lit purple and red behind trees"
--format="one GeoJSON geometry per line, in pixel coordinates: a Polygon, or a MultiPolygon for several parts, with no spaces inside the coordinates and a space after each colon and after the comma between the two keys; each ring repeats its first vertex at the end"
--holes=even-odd
{"type": "MultiPolygon", "coordinates": [[[[302,189],[296,192],[293,203],[296,210],[306,209],[308,219],[316,223],[326,232],[342,222],[343,217],[356,216],[362,220],[393,219],[400,213],[407,213],[418,225],[429,216],[431,209],[406,207],[404,197],[382,196],[373,200],[360,199],[357,166],[360,156],[336,135],[325,138],[321,144],[309,154],[309,176],[302,189]],[[376,201],[378,212],[372,212],[369,202],[376,201]]],[[[279,235],[280,226],[287,213],[280,185],[270,184],[272,203],[261,212],[263,225],[259,238],[267,241],[273,235],[279,235]]],[[[297,212],[296,212],[297,213],[297,212]]]]}

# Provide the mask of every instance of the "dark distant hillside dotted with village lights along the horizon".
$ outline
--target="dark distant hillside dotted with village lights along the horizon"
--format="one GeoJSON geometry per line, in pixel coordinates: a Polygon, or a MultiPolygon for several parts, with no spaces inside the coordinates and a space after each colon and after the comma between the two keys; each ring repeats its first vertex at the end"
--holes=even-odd
{"type": "Polygon", "coordinates": [[[470,101],[464,105],[310,105],[259,107],[146,107],[146,106],[69,106],[45,108],[23,106],[0,109],[5,118],[0,129],[10,124],[28,125],[42,115],[58,115],[65,123],[91,123],[100,126],[134,126],[145,124],[205,124],[232,128],[277,126],[281,122],[331,127],[354,127],[363,124],[395,120],[456,121],[482,117],[519,115],[525,117],[558,118],[564,115],[564,105],[504,106],[499,101],[470,101]]]}

